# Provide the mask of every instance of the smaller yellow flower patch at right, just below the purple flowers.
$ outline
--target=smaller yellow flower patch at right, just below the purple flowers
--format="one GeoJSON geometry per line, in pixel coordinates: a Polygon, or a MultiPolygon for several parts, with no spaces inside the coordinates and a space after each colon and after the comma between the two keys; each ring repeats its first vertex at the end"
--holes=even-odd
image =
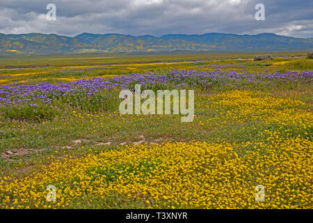
{"type": "Polygon", "coordinates": [[[203,109],[220,109],[220,116],[210,118],[210,122],[222,117],[225,121],[237,123],[250,120],[309,128],[313,124],[310,109],[305,108],[305,102],[295,98],[279,98],[270,93],[236,90],[214,95],[207,100],[210,103],[203,109]]]}

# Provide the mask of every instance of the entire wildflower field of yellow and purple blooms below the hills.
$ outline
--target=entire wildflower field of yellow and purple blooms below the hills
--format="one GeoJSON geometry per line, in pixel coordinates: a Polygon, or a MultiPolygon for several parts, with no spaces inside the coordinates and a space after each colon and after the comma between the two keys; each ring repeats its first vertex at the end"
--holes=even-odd
{"type": "Polygon", "coordinates": [[[0,208],[313,208],[304,54],[1,60],[0,208]],[[193,122],[120,114],[135,84],[193,89],[193,122]]]}

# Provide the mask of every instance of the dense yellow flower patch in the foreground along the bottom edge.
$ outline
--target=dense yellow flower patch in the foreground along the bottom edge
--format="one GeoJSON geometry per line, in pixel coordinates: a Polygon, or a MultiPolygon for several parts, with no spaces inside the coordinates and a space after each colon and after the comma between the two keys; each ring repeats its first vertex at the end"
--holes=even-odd
{"type": "Polygon", "coordinates": [[[241,145],[168,142],[67,156],[22,179],[0,178],[0,205],[66,208],[115,193],[152,208],[312,208],[312,146],[272,135],[241,145]],[[56,202],[46,201],[47,185],[56,187],[56,202]],[[264,186],[264,202],[255,201],[256,185],[264,186]]]}

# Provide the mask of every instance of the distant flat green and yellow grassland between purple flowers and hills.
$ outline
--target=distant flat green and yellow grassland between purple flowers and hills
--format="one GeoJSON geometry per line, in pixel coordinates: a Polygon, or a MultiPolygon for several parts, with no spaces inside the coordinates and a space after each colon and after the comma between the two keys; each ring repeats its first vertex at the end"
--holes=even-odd
{"type": "MultiPolygon", "coordinates": [[[[214,70],[210,64],[234,64],[237,70],[264,72],[273,61],[290,60],[286,56],[305,58],[306,52],[273,52],[273,61],[251,61],[257,53],[212,53],[212,54],[69,54],[41,56],[1,56],[0,84],[13,82],[51,82],[58,78],[92,78],[102,75],[128,75],[132,72],[164,73],[172,69],[214,70]],[[170,64],[166,64],[170,63],[170,64]],[[134,66],[134,64],[136,66],[134,66]],[[138,66],[139,65],[139,66],[138,66]],[[102,67],[102,68],[97,68],[102,67]],[[135,68],[135,69],[130,69],[135,68]],[[76,72],[79,70],[79,72],[76,72]],[[24,75],[23,75],[24,74],[24,75]],[[25,75],[26,74],[26,75],[25,75]],[[15,75],[15,76],[11,76],[15,75]],[[19,75],[19,76],[16,76],[19,75]]],[[[310,61],[310,60],[308,60],[310,61]]],[[[222,68],[234,70],[234,68],[222,68]]],[[[277,71],[278,68],[271,68],[277,71]]],[[[66,81],[65,81],[66,82],[66,81]]]]}

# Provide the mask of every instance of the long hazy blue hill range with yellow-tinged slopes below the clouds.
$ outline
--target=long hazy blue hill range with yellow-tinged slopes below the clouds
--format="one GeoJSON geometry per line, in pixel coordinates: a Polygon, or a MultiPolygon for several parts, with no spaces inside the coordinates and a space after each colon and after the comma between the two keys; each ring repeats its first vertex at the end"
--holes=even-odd
{"type": "Polygon", "coordinates": [[[293,38],[273,33],[236,35],[168,34],[166,36],[129,36],[122,34],[81,33],[78,36],[56,34],[0,33],[0,54],[51,54],[84,52],[159,52],[175,50],[208,52],[287,52],[313,49],[313,38],[293,38]]]}

